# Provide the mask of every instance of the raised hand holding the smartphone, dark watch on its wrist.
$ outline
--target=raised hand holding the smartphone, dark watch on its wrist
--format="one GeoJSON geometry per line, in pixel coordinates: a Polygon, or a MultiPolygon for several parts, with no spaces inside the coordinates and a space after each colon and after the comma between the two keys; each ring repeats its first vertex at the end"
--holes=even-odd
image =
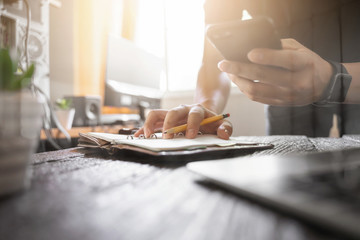
{"type": "Polygon", "coordinates": [[[331,65],[294,39],[283,49],[253,49],[251,63],[223,60],[219,69],[251,100],[275,106],[316,102],[332,75],[331,65]]]}

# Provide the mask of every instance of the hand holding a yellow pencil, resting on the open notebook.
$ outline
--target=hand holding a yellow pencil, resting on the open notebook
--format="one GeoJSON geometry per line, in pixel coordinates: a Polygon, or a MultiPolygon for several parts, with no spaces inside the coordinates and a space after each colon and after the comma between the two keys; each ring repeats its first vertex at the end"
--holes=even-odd
{"type": "MultiPolygon", "coordinates": [[[[217,134],[219,138],[229,139],[232,134],[232,125],[227,120],[220,120],[214,123],[200,126],[204,118],[215,116],[214,112],[206,109],[201,104],[180,105],[171,110],[152,110],[149,112],[144,126],[134,135],[144,134],[146,138],[150,137],[157,129],[165,131],[187,123],[188,127],[185,136],[195,138],[199,131],[202,133],[217,134]]],[[[164,138],[173,138],[173,134],[165,134],[164,138]]]]}

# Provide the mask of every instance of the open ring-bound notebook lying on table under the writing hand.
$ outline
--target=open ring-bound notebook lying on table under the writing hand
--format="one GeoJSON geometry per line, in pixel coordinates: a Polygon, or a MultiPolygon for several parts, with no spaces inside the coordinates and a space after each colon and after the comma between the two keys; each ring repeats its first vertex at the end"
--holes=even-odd
{"type": "Polygon", "coordinates": [[[80,133],[79,135],[79,147],[104,149],[110,154],[125,151],[130,154],[145,154],[169,159],[177,156],[182,160],[233,157],[247,154],[249,151],[273,147],[272,144],[244,142],[233,137],[224,140],[210,134],[202,134],[194,139],[184,136],[163,139],[161,133],[153,134],[151,138],[98,132],[80,133]]]}

